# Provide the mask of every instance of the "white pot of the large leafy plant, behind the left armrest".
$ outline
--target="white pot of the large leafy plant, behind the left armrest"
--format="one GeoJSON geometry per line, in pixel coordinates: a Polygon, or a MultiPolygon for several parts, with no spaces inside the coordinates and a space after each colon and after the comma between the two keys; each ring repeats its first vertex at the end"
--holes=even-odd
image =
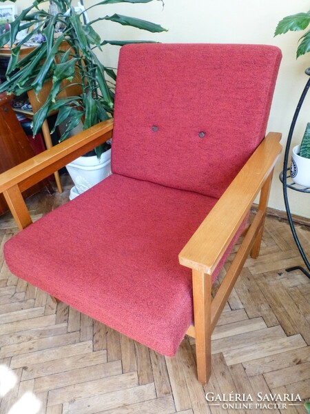
{"type": "Polygon", "coordinates": [[[72,200],[111,174],[111,150],[103,152],[100,159],[96,155],[79,157],[66,168],[74,182],[69,197],[72,200]]]}

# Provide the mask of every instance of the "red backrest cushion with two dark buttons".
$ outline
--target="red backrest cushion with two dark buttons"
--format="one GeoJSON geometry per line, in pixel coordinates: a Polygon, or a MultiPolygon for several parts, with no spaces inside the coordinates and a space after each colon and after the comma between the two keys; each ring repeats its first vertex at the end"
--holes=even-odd
{"type": "Polygon", "coordinates": [[[220,197],[265,136],[280,59],[265,45],[124,46],[112,171],[220,197]]]}

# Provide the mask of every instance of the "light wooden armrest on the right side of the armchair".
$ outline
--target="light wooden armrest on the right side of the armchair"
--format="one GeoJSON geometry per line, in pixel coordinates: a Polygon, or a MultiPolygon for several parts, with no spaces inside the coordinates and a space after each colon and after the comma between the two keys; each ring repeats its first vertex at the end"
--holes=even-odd
{"type": "Polygon", "coordinates": [[[183,266],[211,275],[273,171],[281,134],[269,132],[179,255],[183,266]]]}

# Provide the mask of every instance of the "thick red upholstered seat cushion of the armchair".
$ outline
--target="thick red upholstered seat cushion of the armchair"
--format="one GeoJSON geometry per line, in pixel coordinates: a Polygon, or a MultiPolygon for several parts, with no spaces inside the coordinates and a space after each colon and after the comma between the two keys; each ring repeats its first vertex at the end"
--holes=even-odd
{"type": "Polygon", "coordinates": [[[192,322],[192,273],[178,253],[215,202],[112,175],[10,239],[6,261],[18,277],[172,356],[192,322]]]}

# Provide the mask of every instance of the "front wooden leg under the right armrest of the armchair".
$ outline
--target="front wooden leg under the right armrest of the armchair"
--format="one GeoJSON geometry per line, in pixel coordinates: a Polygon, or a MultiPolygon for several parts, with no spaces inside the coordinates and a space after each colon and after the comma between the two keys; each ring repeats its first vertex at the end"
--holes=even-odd
{"type": "Polygon", "coordinates": [[[193,270],[194,325],[198,381],[211,375],[211,276],[193,270]]]}

